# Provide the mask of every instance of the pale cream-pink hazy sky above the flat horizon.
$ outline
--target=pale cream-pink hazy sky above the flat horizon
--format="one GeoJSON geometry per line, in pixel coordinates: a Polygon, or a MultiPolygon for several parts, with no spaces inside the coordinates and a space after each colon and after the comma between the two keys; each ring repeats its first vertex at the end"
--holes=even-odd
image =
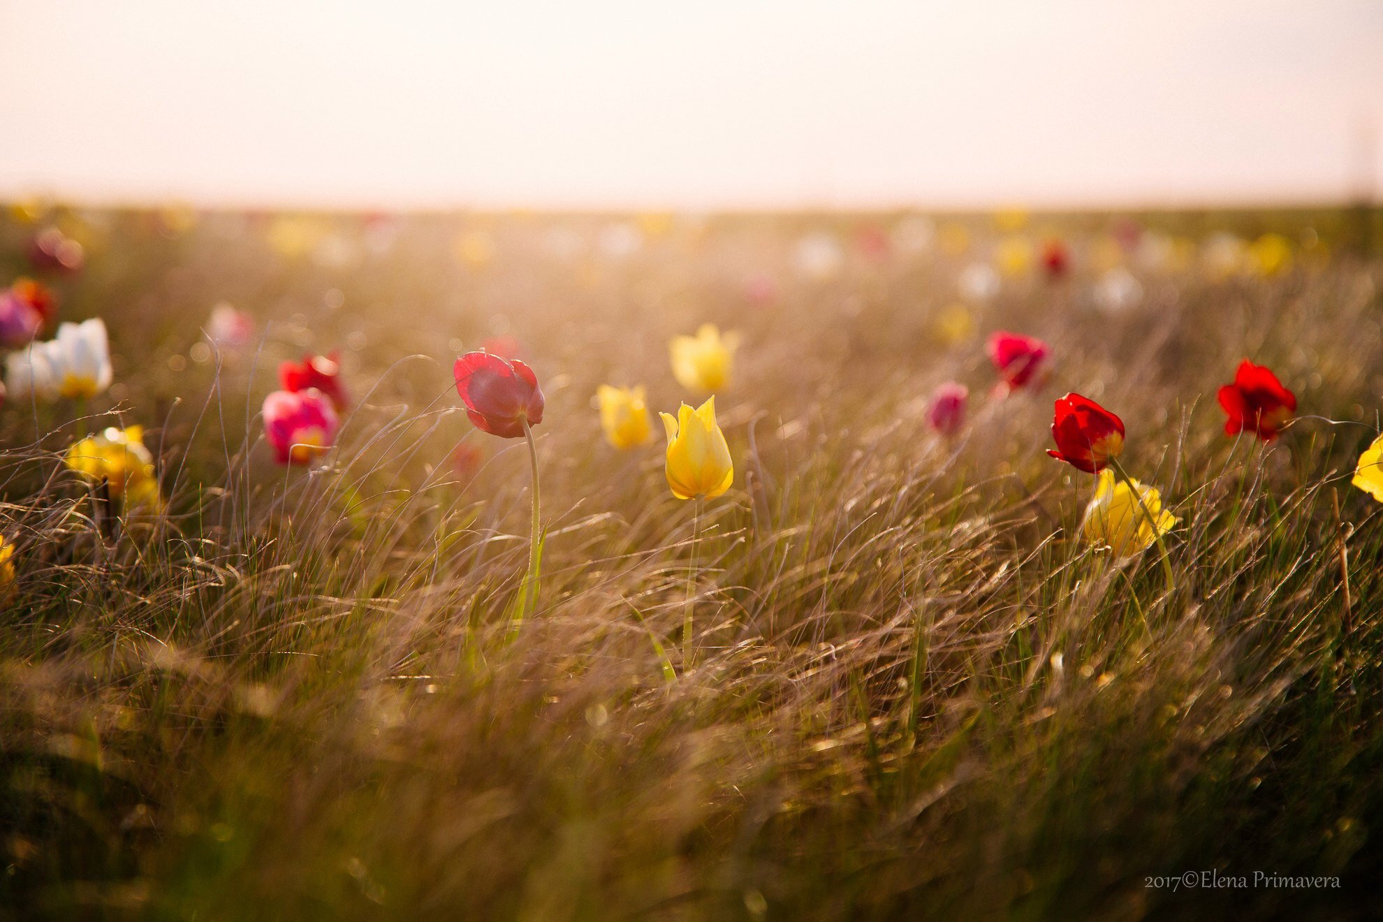
{"type": "Polygon", "coordinates": [[[0,0],[0,196],[1155,205],[1371,170],[1377,0],[0,0]]]}

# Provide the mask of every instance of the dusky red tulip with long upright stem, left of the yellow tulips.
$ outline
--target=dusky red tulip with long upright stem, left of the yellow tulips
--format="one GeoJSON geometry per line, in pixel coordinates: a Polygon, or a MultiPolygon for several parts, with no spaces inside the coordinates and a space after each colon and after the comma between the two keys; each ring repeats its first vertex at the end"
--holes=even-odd
{"type": "Polygon", "coordinates": [[[524,438],[532,466],[532,520],[528,524],[528,572],[519,589],[514,628],[538,604],[538,570],[542,563],[542,505],[538,495],[538,446],[532,427],[542,422],[544,398],[538,376],[517,358],[466,352],[452,368],[456,394],[466,416],[481,431],[501,438],[524,438]]]}

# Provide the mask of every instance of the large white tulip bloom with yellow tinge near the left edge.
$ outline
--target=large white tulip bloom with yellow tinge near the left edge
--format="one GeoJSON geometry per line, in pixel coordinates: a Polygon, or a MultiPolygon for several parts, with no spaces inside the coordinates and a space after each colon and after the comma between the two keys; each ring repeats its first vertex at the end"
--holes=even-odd
{"type": "Polygon", "coordinates": [[[98,318],[62,323],[57,337],[6,359],[6,384],[12,397],[32,393],[46,401],[86,399],[109,387],[112,377],[105,323],[98,318]]]}

